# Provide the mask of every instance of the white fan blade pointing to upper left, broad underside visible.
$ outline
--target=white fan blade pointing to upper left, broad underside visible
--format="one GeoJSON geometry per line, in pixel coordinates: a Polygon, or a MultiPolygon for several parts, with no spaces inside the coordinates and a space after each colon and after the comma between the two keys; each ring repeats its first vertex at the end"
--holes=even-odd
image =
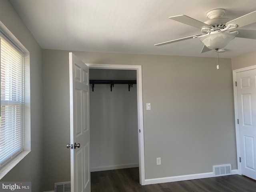
{"type": "Polygon", "coordinates": [[[177,16],[169,17],[169,19],[172,19],[172,20],[175,20],[175,21],[178,21],[178,22],[181,22],[181,23],[184,23],[184,24],[187,24],[187,25],[199,28],[199,29],[202,29],[203,27],[212,28],[212,26],[205,24],[203,22],[200,22],[200,21],[193,19],[186,15],[177,15],[177,16]]]}

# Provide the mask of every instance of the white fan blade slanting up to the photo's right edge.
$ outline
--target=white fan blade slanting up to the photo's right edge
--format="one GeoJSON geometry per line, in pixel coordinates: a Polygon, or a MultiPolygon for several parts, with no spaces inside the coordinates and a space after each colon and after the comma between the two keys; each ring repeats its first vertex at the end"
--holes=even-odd
{"type": "Polygon", "coordinates": [[[256,11],[229,21],[226,23],[226,26],[228,26],[228,24],[237,24],[238,28],[240,28],[254,22],[256,22],[256,11]]]}

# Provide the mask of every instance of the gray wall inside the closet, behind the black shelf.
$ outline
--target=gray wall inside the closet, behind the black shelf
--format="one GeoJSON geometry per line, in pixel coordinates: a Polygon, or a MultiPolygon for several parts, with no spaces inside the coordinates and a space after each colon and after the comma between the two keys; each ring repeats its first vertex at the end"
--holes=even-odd
{"type": "MultiPolygon", "coordinates": [[[[90,69],[91,79],[136,80],[136,70],[90,69]]],[[[138,166],[136,84],[90,88],[90,158],[92,171],[138,166]]]]}

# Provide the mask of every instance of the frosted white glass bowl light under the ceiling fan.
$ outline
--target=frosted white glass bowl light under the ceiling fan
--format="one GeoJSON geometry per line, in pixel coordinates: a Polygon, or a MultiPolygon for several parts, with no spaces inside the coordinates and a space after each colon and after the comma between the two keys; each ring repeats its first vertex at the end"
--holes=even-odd
{"type": "Polygon", "coordinates": [[[228,43],[235,38],[234,34],[218,32],[211,33],[209,35],[200,38],[200,41],[209,49],[222,49],[228,45],[228,43]]]}

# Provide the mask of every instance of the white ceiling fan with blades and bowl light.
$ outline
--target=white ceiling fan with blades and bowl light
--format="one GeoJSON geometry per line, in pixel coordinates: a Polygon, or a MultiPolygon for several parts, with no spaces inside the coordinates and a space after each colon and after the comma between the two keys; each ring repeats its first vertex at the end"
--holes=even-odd
{"type": "Polygon", "coordinates": [[[240,29],[243,26],[256,22],[256,11],[238,17],[234,20],[223,18],[224,15],[224,9],[211,10],[206,14],[207,18],[209,19],[206,22],[198,21],[186,15],[169,17],[172,20],[176,20],[178,22],[199,28],[204,34],[192,35],[176,40],[171,40],[155,44],[155,46],[166,45],[191,38],[199,38],[200,41],[204,44],[204,47],[201,51],[201,53],[204,53],[210,50],[223,49],[235,37],[256,39],[256,30],[240,29]]]}

